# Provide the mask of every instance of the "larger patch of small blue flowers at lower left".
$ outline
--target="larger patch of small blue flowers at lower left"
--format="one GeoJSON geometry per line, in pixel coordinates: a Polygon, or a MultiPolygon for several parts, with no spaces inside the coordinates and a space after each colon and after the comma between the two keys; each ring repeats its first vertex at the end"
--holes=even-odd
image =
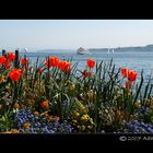
{"type": "Polygon", "coordinates": [[[46,117],[35,116],[30,108],[20,109],[14,115],[14,122],[16,128],[22,133],[71,133],[73,127],[64,120],[49,121],[46,117]],[[28,123],[28,128],[24,127],[24,123],[28,123]]]}

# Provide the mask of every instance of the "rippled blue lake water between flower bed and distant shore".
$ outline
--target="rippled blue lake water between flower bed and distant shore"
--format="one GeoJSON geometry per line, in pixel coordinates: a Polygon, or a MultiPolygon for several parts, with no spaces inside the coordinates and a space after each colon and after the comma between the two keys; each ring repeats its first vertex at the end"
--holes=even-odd
{"type": "MultiPolygon", "coordinates": [[[[21,54],[23,56],[23,54],[21,54]]],[[[113,52],[107,52],[107,50],[93,50],[91,55],[78,55],[74,50],[72,51],[49,51],[49,52],[26,52],[31,62],[35,62],[37,57],[45,60],[48,56],[59,57],[60,59],[73,59],[73,62],[79,61],[78,69],[85,69],[86,59],[92,58],[97,62],[104,61],[109,62],[114,59],[116,68],[127,67],[129,69],[136,70],[139,73],[138,81],[140,80],[141,71],[144,70],[145,82],[149,80],[151,71],[153,70],[153,51],[139,51],[139,50],[115,50],[113,52]]]]}

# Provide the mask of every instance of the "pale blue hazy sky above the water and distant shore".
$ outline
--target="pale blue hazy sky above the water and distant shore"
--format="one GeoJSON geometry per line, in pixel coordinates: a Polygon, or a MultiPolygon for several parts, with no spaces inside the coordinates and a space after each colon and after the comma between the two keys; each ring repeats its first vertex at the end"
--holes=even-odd
{"type": "Polygon", "coordinates": [[[78,49],[153,44],[153,20],[0,20],[0,49],[78,49]]]}

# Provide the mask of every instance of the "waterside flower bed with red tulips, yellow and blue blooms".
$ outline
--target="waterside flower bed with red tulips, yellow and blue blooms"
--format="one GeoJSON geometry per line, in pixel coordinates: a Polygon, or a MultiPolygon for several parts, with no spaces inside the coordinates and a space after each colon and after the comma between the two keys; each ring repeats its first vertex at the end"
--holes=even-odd
{"type": "Polygon", "coordinates": [[[142,92],[143,71],[93,59],[80,71],[58,57],[31,66],[17,54],[0,56],[1,133],[153,133],[152,84],[142,92]]]}

